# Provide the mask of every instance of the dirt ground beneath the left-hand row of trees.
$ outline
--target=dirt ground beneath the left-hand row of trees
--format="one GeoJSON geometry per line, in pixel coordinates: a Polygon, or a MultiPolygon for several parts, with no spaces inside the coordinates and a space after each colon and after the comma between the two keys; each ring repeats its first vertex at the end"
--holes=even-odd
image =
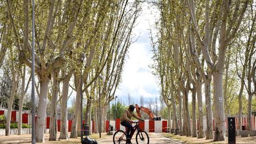
{"type": "MultiPolygon", "coordinates": [[[[58,137],[59,137],[58,132],[58,137]]],[[[70,134],[70,133],[69,133],[70,134]]],[[[103,140],[105,138],[112,137],[109,135],[106,135],[106,133],[101,133],[101,138],[99,134],[93,134],[90,135],[90,138],[97,139],[97,140],[103,140]]],[[[0,143],[31,143],[31,135],[30,134],[24,134],[24,135],[10,135],[8,137],[4,135],[0,135],[0,143]]],[[[80,143],[80,137],[79,138],[70,138],[69,140],[58,140],[58,141],[49,141],[49,133],[45,134],[45,143],[80,143]]]]}

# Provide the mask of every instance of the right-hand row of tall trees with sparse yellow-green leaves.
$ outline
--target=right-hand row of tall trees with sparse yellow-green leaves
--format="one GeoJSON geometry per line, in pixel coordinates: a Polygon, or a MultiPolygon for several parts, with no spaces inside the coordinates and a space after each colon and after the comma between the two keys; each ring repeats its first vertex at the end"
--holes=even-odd
{"type": "Polygon", "coordinates": [[[181,135],[224,140],[225,119],[238,97],[239,129],[243,106],[248,107],[247,129],[251,129],[252,96],[256,94],[255,1],[161,0],[154,4],[160,19],[156,35],[152,34],[153,68],[160,80],[161,96],[173,111],[170,118],[174,119],[174,127],[180,129],[181,135]],[[242,103],[244,96],[247,104],[242,103]],[[207,115],[206,133],[203,109],[207,115]],[[177,119],[183,122],[178,125],[177,119]]]}

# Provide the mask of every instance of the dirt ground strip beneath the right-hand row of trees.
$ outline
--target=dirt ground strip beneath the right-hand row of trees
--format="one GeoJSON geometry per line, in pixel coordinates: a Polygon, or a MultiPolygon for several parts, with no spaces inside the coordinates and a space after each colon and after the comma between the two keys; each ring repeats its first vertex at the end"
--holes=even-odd
{"type": "MultiPolygon", "coordinates": [[[[180,143],[228,143],[228,139],[226,138],[226,141],[221,142],[213,142],[213,140],[205,140],[205,138],[196,138],[196,137],[186,137],[186,136],[179,136],[179,135],[173,135],[171,133],[162,133],[164,137],[171,138],[173,140],[176,140],[180,143]]],[[[236,143],[256,143],[256,137],[236,137],[236,143]]]]}

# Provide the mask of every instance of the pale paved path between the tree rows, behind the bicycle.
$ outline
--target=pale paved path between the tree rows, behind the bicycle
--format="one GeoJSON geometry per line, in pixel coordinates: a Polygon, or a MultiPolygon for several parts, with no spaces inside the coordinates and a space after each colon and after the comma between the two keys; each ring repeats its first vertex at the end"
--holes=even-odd
{"type": "MultiPolygon", "coordinates": [[[[158,133],[150,132],[150,133],[148,133],[148,136],[150,138],[150,144],[156,144],[156,143],[179,144],[179,142],[175,142],[174,140],[163,137],[163,136],[159,135],[158,133]]],[[[133,144],[136,143],[135,137],[132,138],[132,143],[133,144]]],[[[113,137],[105,138],[103,140],[98,140],[98,144],[113,144],[113,137]]]]}

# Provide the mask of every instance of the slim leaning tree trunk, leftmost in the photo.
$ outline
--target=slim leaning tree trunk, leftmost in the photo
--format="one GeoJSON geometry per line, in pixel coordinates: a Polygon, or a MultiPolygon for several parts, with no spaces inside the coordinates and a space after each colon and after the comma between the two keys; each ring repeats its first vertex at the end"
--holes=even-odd
{"type": "Polygon", "coordinates": [[[7,119],[6,119],[6,136],[10,135],[10,124],[11,124],[11,116],[12,116],[12,104],[14,103],[14,96],[17,90],[17,85],[19,82],[19,78],[15,78],[15,74],[12,76],[12,90],[11,95],[8,103],[8,110],[7,110],[7,119]]]}

